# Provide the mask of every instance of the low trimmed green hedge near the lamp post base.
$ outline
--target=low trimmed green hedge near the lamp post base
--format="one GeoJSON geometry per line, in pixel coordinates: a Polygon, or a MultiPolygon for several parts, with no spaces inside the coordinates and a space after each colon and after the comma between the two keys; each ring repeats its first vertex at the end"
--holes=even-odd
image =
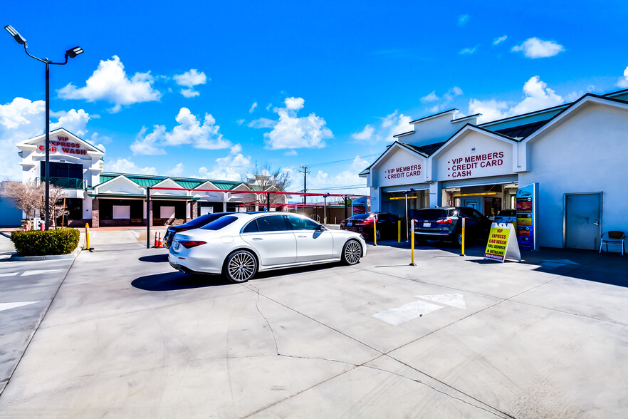
{"type": "Polygon", "coordinates": [[[78,229],[55,229],[47,232],[11,232],[18,256],[68,254],[78,246],[78,229]]]}

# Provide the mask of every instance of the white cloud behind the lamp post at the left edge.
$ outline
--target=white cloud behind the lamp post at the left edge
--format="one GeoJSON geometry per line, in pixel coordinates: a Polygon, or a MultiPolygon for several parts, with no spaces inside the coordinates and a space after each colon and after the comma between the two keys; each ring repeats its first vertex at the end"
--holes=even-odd
{"type": "MultiPolygon", "coordinates": [[[[44,133],[46,103],[43,100],[31,101],[26,98],[14,98],[9,103],[0,105],[0,179],[21,180],[21,159],[17,154],[16,143],[44,133]]],[[[90,115],[83,109],[51,112],[51,130],[66,128],[76,135],[85,135],[85,125],[90,115]]],[[[102,145],[99,145],[102,147],[102,145]]]]}

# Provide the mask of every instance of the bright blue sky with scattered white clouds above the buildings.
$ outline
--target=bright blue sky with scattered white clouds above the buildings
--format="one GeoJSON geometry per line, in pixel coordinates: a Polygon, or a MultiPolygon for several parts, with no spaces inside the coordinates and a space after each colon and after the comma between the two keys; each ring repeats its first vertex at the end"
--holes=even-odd
{"type": "MultiPolygon", "coordinates": [[[[34,1],[4,6],[51,67],[51,122],[106,148],[105,170],[240,180],[310,166],[308,190],[357,173],[409,120],[483,121],[628,88],[625,1],[34,1]]],[[[0,177],[43,133],[44,66],[0,36],[0,177]]]]}

